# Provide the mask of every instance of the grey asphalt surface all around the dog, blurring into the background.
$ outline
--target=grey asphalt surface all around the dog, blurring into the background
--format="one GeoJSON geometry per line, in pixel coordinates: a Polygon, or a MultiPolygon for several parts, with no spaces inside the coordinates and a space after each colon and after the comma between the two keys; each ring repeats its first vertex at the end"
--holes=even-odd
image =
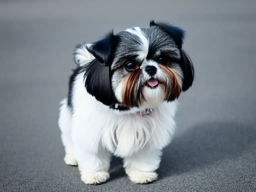
{"type": "Polygon", "coordinates": [[[0,2],[0,191],[256,191],[255,1],[0,2]],[[179,98],[159,179],[83,184],[57,126],[77,43],[168,20],[187,30],[196,81],[179,98]]]}

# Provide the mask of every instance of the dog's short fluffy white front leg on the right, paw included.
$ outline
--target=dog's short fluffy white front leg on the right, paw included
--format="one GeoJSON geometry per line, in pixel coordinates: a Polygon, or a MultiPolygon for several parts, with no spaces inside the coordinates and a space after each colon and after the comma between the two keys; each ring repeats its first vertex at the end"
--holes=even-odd
{"type": "Polygon", "coordinates": [[[150,183],[157,179],[156,169],[159,167],[162,152],[148,147],[124,158],[124,168],[130,180],[134,183],[150,183]]]}

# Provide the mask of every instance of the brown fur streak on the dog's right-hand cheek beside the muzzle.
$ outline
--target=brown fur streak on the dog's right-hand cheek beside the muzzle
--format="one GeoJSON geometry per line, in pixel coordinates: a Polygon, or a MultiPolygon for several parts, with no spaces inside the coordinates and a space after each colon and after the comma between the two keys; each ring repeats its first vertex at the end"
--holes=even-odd
{"type": "Polygon", "coordinates": [[[177,79],[177,75],[175,74],[175,72],[169,68],[166,67],[164,65],[159,64],[159,67],[164,71],[164,73],[168,76],[168,78],[170,79],[171,82],[171,87],[167,87],[166,89],[169,92],[169,94],[167,95],[166,100],[175,100],[178,99],[181,89],[179,87],[178,84],[178,79],[177,79]]]}

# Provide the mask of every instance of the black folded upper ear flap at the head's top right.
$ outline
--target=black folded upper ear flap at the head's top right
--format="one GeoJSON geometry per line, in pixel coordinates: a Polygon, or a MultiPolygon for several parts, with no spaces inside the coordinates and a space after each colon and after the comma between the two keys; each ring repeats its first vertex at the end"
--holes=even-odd
{"type": "Polygon", "coordinates": [[[155,22],[154,20],[150,21],[149,24],[150,27],[152,26],[158,26],[161,27],[162,29],[166,30],[167,32],[169,32],[175,39],[177,46],[179,47],[179,49],[182,48],[182,44],[183,44],[183,39],[185,37],[185,31],[182,28],[170,25],[167,22],[155,22]]]}

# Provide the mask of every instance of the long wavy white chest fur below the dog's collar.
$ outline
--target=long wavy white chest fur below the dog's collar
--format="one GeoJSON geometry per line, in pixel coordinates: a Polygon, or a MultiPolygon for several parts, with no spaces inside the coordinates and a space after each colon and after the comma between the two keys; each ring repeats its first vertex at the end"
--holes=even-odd
{"type": "Polygon", "coordinates": [[[104,129],[102,144],[114,155],[130,156],[144,147],[162,149],[174,131],[174,120],[163,115],[159,109],[151,116],[140,114],[117,116],[104,129]]]}

